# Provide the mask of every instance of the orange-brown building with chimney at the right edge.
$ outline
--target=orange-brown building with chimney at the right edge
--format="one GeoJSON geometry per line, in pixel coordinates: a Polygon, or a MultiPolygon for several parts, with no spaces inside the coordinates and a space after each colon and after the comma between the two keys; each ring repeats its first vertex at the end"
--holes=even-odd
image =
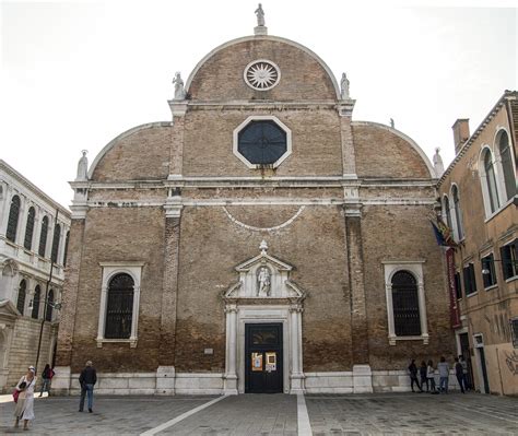
{"type": "Polygon", "coordinates": [[[467,119],[455,122],[456,157],[438,181],[457,241],[458,354],[478,390],[501,394],[518,393],[517,97],[506,91],[472,134],[467,119]]]}

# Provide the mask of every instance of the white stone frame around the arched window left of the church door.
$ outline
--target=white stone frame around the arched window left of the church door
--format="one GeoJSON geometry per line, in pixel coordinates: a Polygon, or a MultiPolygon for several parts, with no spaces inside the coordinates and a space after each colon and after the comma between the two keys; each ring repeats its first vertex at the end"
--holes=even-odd
{"type": "Polygon", "coordinates": [[[137,347],[139,331],[139,307],[140,307],[140,285],[142,280],[142,269],[145,262],[99,262],[103,271],[103,281],[101,287],[99,318],[97,325],[97,347],[103,347],[103,343],[118,342],[129,343],[130,347],[137,347]],[[105,338],[106,308],[108,304],[108,285],[110,280],[117,274],[128,274],[133,279],[133,313],[131,318],[131,334],[128,339],[107,339],[105,338]]]}

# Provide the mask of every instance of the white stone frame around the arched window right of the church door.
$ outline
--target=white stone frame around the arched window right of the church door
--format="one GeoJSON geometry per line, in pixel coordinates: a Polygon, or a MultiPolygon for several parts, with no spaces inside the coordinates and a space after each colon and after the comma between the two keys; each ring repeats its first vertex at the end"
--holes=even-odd
{"type": "Polygon", "coordinates": [[[426,299],[424,292],[423,263],[425,260],[384,260],[385,272],[385,295],[387,298],[387,322],[388,322],[388,341],[389,345],[396,345],[398,341],[423,341],[428,344],[428,322],[426,318],[426,299]],[[396,335],[393,304],[392,304],[392,278],[398,271],[408,271],[412,273],[417,282],[419,313],[421,321],[421,334],[413,337],[396,335]]]}

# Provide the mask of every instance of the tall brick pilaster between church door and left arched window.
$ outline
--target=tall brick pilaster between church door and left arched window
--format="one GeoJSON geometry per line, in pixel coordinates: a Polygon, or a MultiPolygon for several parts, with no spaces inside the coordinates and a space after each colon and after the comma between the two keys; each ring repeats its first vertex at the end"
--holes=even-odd
{"type": "Polygon", "coordinates": [[[164,285],[162,291],[156,393],[175,393],[176,316],[178,301],[178,257],[180,244],[181,197],[169,189],[165,209],[164,285]]]}

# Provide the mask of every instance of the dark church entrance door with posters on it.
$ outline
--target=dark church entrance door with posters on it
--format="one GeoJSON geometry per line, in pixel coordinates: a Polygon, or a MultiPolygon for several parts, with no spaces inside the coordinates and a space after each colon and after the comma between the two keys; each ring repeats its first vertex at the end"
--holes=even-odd
{"type": "Polygon", "coordinates": [[[282,323],[245,325],[245,392],[282,392],[282,323]]]}

